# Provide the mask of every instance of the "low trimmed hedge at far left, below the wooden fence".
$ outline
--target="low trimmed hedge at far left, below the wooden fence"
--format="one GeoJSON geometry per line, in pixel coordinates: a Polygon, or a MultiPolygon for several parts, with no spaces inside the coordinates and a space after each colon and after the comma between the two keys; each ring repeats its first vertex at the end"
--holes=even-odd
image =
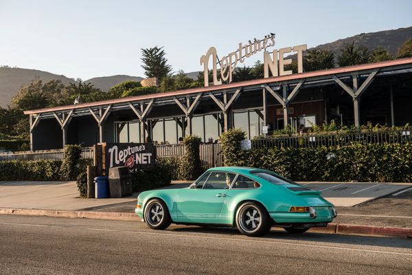
{"type": "Polygon", "coordinates": [[[1,181],[57,181],[60,180],[60,160],[32,160],[28,162],[0,162],[1,181]]]}

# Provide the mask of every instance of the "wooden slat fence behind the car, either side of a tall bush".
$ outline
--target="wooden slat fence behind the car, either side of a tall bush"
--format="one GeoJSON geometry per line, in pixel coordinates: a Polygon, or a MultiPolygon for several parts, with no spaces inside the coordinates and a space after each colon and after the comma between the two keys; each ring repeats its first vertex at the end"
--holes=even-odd
{"type": "MultiPolygon", "coordinates": [[[[200,146],[202,165],[211,168],[223,166],[222,146],[219,143],[205,143],[200,146]]],[[[183,157],[185,155],[184,144],[156,145],[157,157],[183,157]]]]}

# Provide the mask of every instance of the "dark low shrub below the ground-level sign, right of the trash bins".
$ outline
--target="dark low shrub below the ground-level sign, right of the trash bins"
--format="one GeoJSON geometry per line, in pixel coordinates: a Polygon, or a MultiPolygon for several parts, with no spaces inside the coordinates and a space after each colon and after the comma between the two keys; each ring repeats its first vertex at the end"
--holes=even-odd
{"type": "Polygon", "coordinates": [[[170,181],[172,181],[172,177],[169,170],[162,165],[146,170],[135,169],[132,171],[133,192],[168,186],[170,181]]]}

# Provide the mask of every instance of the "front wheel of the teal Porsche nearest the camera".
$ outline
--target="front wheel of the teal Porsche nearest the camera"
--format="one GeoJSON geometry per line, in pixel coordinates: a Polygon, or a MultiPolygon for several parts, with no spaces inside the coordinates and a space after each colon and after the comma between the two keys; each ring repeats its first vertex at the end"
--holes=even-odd
{"type": "Polygon", "coordinates": [[[168,206],[161,199],[148,201],[144,210],[144,221],[149,228],[163,230],[172,223],[168,206]]]}

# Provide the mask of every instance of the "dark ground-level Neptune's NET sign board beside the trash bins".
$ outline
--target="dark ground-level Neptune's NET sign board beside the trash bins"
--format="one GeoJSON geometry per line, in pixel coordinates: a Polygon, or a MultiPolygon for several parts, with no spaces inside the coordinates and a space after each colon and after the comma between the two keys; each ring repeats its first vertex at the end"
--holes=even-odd
{"type": "Polygon", "coordinates": [[[106,143],[106,169],[118,166],[150,168],[155,165],[155,145],[152,143],[106,143]]]}

